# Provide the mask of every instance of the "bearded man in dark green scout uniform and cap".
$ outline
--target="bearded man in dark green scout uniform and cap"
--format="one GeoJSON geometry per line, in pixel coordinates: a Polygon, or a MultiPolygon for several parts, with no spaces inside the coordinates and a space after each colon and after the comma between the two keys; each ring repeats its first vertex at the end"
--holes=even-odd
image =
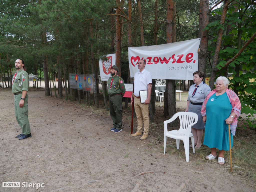
{"type": "Polygon", "coordinates": [[[118,67],[113,65],[110,68],[110,75],[112,75],[112,77],[108,80],[109,113],[113,120],[113,128],[111,128],[110,131],[114,133],[122,131],[122,97],[125,93],[124,80],[116,74],[117,72],[118,67]]]}

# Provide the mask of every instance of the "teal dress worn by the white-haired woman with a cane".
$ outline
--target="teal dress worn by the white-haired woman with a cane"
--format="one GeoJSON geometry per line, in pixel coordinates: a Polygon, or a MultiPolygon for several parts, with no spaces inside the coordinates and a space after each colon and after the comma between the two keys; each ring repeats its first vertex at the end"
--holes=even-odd
{"type": "MultiPolygon", "coordinates": [[[[227,93],[216,96],[214,93],[206,103],[206,123],[204,145],[210,148],[216,147],[219,150],[229,150],[229,134],[227,119],[231,113],[232,105],[227,93]]],[[[230,133],[231,148],[233,136],[230,133]]]]}

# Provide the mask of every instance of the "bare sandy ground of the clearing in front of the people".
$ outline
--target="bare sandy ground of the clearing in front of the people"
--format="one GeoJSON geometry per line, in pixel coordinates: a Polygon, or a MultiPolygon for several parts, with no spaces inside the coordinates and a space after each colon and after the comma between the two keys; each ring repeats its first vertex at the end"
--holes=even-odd
{"type": "Polygon", "coordinates": [[[44,183],[44,188],[0,187],[1,192],[255,191],[255,183],[230,173],[229,165],[194,158],[192,150],[189,162],[185,152],[178,155],[170,147],[163,155],[155,133],[162,124],[151,125],[149,137],[140,141],[130,136],[130,118],[124,119],[122,132],[111,132],[112,121],[102,105],[94,109],[45,97],[44,90],[28,94],[32,137],[18,140],[15,136],[22,132],[13,94],[0,90],[0,181],[44,183]],[[149,173],[136,176],[141,172],[149,173]]]}

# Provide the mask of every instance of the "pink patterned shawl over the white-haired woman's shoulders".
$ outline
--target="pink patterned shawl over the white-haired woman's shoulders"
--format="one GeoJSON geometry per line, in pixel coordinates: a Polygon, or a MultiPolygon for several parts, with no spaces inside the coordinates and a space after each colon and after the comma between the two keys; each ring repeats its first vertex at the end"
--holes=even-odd
{"type": "MultiPolygon", "coordinates": [[[[212,90],[205,98],[205,101],[204,101],[204,103],[202,105],[202,109],[201,109],[202,116],[206,115],[207,101],[216,92],[217,92],[216,89],[212,90]]],[[[232,105],[231,113],[234,111],[234,113],[236,114],[236,117],[233,119],[233,122],[230,124],[230,130],[231,130],[232,135],[234,136],[236,133],[236,128],[237,128],[237,118],[240,116],[240,113],[241,113],[241,103],[240,103],[239,98],[237,97],[237,94],[234,91],[227,88],[226,93],[227,93],[229,101],[232,105]]]]}

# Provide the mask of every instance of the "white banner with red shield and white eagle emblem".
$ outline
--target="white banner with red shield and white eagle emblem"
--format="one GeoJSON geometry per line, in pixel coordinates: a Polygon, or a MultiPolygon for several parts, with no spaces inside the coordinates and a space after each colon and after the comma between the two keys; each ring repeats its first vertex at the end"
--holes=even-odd
{"type": "Polygon", "coordinates": [[[100,78],[101,81],[107,81],[110,78],[110,68],[115,65],[115,54],[109,54],[104,57],[103,61],[100,59],[100,78]],[[105,60],[107,59],[107,60],[105,60]]]}

